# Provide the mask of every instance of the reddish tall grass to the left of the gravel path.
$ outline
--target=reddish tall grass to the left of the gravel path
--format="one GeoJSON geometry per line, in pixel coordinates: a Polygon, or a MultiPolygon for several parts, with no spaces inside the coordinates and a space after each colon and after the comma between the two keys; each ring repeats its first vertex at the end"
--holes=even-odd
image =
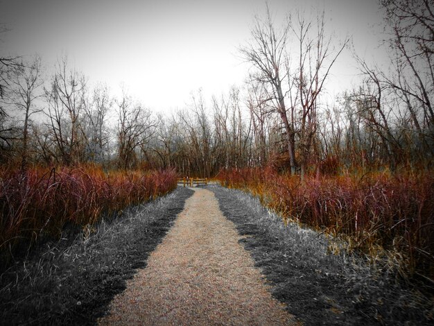
{"type": "Polygon", "coordinates": [[[176,187],[174,171],[112,171],[96,165],[0,170],[0,261],[67,225],[91,230],[103,214],[143,203],[176,187]]]}

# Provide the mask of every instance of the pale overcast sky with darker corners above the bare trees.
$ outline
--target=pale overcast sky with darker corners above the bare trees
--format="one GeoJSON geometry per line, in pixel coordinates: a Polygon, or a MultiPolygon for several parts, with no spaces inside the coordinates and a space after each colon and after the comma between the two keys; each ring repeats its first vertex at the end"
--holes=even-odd
{"type": "MultiPolygon", "coordinates": [[[[107,83],[114,94],[123,83],[153,110],[183,108],[189,94],[205,96],[241,85],[248,66],[236,48],[250,37],[254,14],[264,0],[0,0],[0,54],[40,53],[51,68],[62,53],[89,77],[107,83]]],[[[361,55],[377,56],[376,0],[269,0],[276,19],[296,9],[325,9],[336,40],[353,35],[361,55]]],[[[354,60],[343,53],[329,92],[354,80],[354,60]]]]}

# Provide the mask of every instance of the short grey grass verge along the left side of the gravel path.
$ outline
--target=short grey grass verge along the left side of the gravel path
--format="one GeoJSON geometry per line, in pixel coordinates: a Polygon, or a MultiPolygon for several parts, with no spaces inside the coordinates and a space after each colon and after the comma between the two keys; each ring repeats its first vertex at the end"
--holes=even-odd
{"type": "Polygon", "coordinates": [[[90,236],[38,246],[0,275],[0,325],[94,325],[134,269],[146,267],[192,194],[175,189],[122,218],[103,219],[90,236]]]}

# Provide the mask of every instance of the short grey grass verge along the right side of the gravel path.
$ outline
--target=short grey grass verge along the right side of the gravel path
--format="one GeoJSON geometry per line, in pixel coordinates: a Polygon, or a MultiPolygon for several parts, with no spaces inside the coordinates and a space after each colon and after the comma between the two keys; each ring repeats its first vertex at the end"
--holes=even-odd
{"type": "Polygon", "coordinates": [[[272,294],[304,325],[432,325],[434,299],[379,273],[327,234],[284,224],[258,198],[208,186],[223,214],[272,284],[272,294]],[[341,246],[342,247],[342,246],[341,246]]]}

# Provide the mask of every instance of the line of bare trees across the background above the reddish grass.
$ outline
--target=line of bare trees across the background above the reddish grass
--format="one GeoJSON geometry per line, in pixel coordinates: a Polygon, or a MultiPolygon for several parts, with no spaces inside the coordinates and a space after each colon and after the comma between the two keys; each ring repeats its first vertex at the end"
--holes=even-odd
{"type": "Polygon", "coordinates": [[[278,26],[270,10],[255,17],[239,53],[252,69],[244,85],[184,110],[153,112],[123,91],[58,60],[44,77],[35,56],[0,58],[0,161],[107,168],[174,168],[214,176],[220,169],[273,166],[300,173],[388,167],[432,168],[434,8],[428,0],[380,1],[390,67],[354,53],[358,87],[324,100],[336,46],[324,13],[293,13],[278,26]]]}

